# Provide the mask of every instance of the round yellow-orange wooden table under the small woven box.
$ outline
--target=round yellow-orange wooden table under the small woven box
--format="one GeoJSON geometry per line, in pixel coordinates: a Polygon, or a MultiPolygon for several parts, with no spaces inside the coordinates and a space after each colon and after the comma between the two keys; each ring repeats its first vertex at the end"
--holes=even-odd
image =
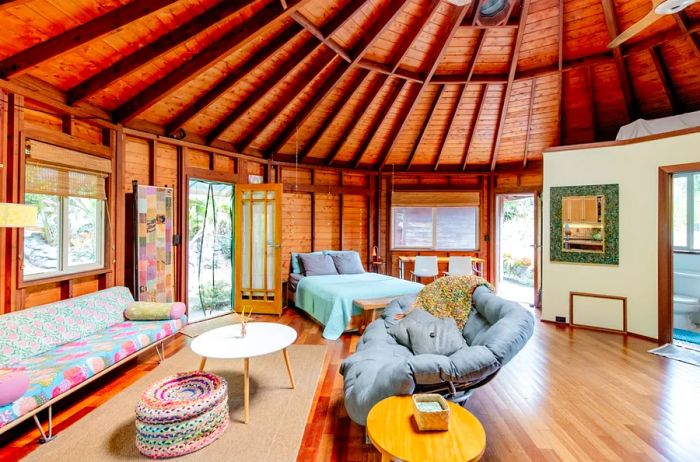
{"type": "Polygon", "coordinates": [[[392,396],[377,403],[367,416],[367,435],[382,453],[382,462],[466,462],[479,460],[486,449],[481,422],[455,403],[450,406],[450,429],[419,432],[410,396],[392,396]]]}

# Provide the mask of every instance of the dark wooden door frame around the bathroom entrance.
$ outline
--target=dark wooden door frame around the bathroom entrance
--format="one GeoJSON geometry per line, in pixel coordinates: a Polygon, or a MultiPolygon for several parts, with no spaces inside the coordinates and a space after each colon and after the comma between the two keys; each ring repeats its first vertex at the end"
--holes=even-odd
{"type": "Polygon", "coordinates": [[[673,174],[696,171],[700,162],[659,167],[659,345],[673,343],[673,174]]]}

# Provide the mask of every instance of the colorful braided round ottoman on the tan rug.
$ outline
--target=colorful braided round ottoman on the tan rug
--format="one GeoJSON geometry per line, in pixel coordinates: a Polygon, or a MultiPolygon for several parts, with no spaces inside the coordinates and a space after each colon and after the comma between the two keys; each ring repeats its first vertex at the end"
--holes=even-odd
{"type": "Polygon", "coordinates": [[[206,372],[181,372],[154,383],[136,405],[136,448],[152,459],[197,451],[226,430],[226,380],[206,372]]]}

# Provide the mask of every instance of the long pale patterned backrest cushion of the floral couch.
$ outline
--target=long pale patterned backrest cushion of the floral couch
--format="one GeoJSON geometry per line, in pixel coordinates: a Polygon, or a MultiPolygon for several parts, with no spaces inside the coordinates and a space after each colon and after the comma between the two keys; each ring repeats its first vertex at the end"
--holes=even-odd
{"type": "Polygon", "coordinates": [[[124,320],[134,301],[126,287],[0,316],[0,367],[87,337],[124,320]]]}

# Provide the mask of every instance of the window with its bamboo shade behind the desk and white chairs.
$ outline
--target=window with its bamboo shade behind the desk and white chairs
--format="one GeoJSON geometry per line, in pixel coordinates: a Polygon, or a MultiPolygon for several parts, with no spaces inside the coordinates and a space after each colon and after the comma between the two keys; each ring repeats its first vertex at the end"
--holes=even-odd
{"type": "Polygon", "coordinates": [[[478,249],[478,192],[394,193],[391,214],[393,249],[478,249]]]}

